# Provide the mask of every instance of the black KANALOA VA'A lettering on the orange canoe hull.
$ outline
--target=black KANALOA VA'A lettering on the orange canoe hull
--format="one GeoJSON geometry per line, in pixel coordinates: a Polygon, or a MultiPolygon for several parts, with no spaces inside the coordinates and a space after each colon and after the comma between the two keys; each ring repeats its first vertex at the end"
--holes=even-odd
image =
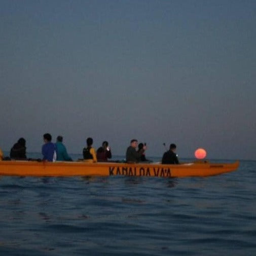
{"type": "Polygon", "coordinates": [[[171,177],[169,168],[108,167],[109,175],[171,177]]]}

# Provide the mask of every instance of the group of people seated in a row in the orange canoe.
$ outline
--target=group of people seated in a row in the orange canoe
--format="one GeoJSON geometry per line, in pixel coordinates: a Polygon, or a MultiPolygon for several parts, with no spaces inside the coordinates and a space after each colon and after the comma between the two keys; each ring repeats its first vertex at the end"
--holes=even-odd
{"type": "MultiPolygon", "coordinates": [[[[58,136],[56,143],[52,142],[52,136],[49,133],[43,135],[44,144],[42,146],[43,161],[72,161],[67,154],[65,145],[63,144],[63,137],[58,136]]],[[[92,147],[93,139],[87,138],[87,147],[83,149],[83,161],[87,163],[108,162],[112,158],[111,148],[108,147],[108,142],[103,141],[102,146],[95,151],[92,147]]],[[[126,150],[127,163],[151,162],[145,158],[145,151],[147,150],[146,143],[139,143],[137,139],[132,139],[129,147],[126,150]]],[[[170,148],[162,157],[162,164],[179,164],[178,157],[175,153],[176,145],[171,143],[170,148]]],[[[10,157],[4,157],[0,149],[0,160],[32,160],[26,157],[26,140],[20,138],[12,147],[10,157]]],[[[39,159],[38,159],[39,160],[39,159]]],[[[41,159],[40,159],[41,160],[41,159]]]]}

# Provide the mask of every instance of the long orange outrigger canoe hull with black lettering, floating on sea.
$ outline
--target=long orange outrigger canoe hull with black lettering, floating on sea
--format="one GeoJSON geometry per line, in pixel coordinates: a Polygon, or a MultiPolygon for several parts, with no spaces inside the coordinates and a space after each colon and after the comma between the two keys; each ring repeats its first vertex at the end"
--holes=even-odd
{"type": "Polygon", "coordinates": [[[212,176],[234,171],[239,162],[195,162],[179,165],[159,163],[85,163],[85,162],[34,162],[0,161],[0,175],[9,176],[152,176],[191,177],[212,176]]]}

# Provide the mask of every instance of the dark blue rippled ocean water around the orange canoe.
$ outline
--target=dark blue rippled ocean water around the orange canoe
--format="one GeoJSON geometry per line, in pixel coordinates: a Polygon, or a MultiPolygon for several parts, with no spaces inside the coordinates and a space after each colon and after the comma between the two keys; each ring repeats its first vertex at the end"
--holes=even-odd
{"type": "Polygon", "coordinates": [[[255,176],[2,176],[0,255],[254,256],[255,176]]]}

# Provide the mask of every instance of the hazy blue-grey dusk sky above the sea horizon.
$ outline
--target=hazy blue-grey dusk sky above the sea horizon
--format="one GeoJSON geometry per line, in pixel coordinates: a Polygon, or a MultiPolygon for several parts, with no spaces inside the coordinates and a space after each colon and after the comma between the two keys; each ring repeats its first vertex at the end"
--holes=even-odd
{"type": "Polygon", "coordinates": [[[2,150],[256,160],[256,1],[0,0],[0,31],[2,150]]]}

